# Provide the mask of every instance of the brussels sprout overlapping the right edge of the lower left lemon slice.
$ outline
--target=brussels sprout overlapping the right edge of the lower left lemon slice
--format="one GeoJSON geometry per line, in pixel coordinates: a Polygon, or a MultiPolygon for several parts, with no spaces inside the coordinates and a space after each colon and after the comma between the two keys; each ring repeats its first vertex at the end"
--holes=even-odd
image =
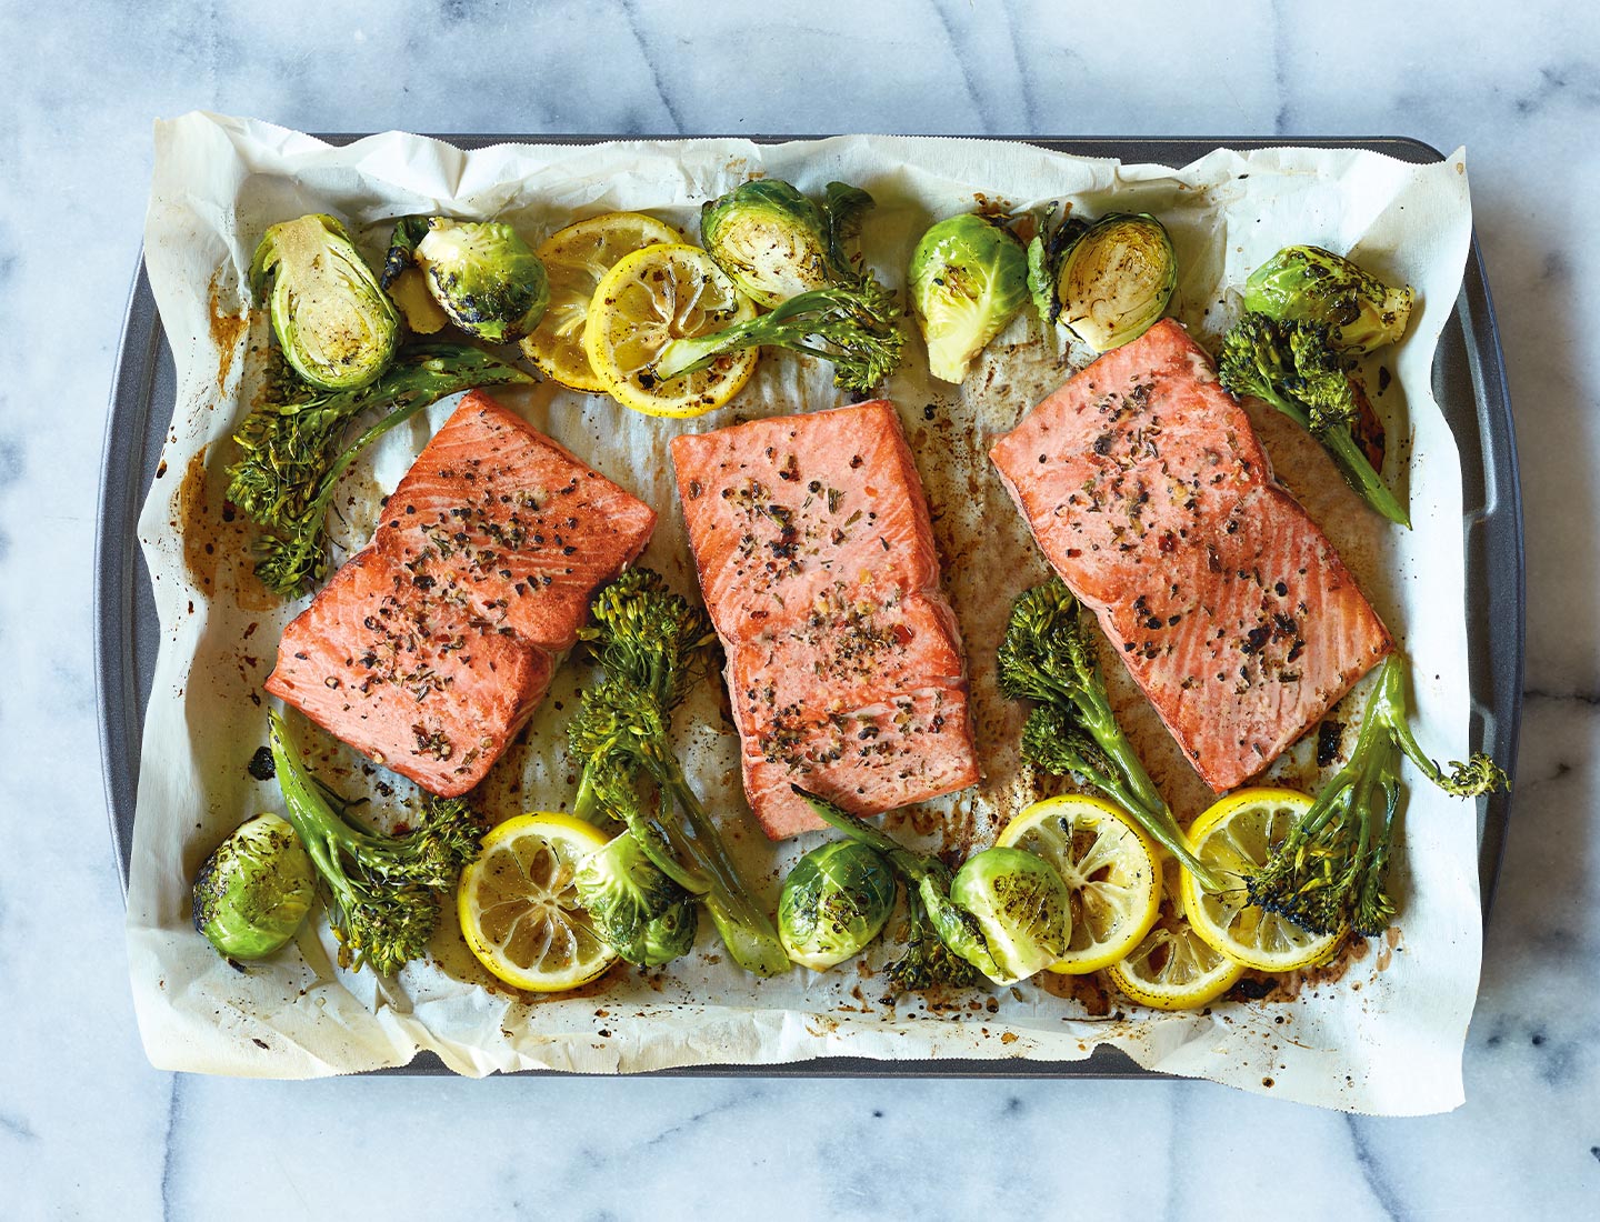
{"type": "Polygon", "coordinates": [[[576,885],[595,932],[629,963],[658,968],[694,945],[694,897],[656,869],[632,832],[584,857],[576,885]]]}

